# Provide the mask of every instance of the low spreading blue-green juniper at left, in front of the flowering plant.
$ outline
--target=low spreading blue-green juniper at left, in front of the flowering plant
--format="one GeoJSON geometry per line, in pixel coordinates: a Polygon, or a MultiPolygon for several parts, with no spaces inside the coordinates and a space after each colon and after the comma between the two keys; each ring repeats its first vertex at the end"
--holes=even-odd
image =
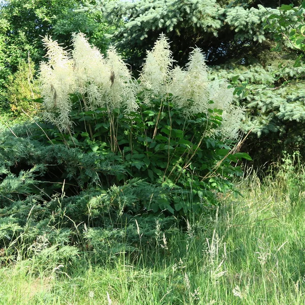
{"type": "MultiPolygon", "coordinates": [[[[0,248],[5,251],[0,263],[17,256],[35,256],[39,265],[54,263],[54,257],[64,262],[77,254],[74,246],[83,247],[84,238],[95,259],[103,259],[115,251],[110,240],[116,249],[137,240],[139,214],[143,240],[154,238],[156,221],[146,219],[145,202],[162,204],[171,196],[168,188],[137,178],[113,185],[124,166],[108,156],[47,143],[36,124],[1,133],[0,162],[0,248]],[[83,224],[89,228],[85,235],[78,230],[83,224]]],[[[167,229],[172,221],[160,219],[167,229]]]]}

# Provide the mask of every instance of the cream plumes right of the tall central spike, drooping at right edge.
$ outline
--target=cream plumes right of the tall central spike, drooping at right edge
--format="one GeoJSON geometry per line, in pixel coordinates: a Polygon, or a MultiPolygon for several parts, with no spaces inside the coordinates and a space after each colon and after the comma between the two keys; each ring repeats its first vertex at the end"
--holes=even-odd
{"type": "Polygon", "coordinates": [[[176,67],[171,75],[170,92],[178,107],[185,108],[188,116],[207,113],[208,109],[221,109],[222,125],[214,130],[214,134],[223,139],[238,137],[245,111],[233,104],[233,89],[228,88],[225,80],[208,80],[208,68],[201,49],[195,48],[191,52],[186,70],[176,67]]]}

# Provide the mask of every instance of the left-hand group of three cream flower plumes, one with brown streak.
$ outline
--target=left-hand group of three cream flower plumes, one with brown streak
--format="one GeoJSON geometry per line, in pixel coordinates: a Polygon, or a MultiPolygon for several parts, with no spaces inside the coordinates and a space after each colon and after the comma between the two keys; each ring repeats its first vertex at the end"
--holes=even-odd
{"type": "Polygon", "coordinates": [[[69,94],[80,94],[85,110],[137,110],[138,84],[114,47],[104,58],[82,33],[73,35],[71,55],[50,38],[44,39],[44,44],[49,59],[40,66],[44,117],[61,131],[71,128],[69,94]]]}

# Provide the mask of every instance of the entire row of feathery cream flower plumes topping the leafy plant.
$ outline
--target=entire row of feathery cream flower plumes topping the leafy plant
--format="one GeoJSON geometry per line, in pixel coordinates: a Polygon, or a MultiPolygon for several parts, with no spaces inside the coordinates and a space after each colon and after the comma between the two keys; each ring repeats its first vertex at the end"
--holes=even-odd
{"type": "Polygon", "coordinates": [[[243,110],[233,105],[232,90],[225,81],[208,79],[199,48],[190,53],[185,69],[173,67],[169,42],[161,35],[154,48],[147,51],[138,84],[114,47],[104,57],[82,33],[73,35],[71,53],[50,38],[45,38],[44,44],[49,59],[40,68],[44,117],[61,131],[71,129],[70,94],[80,95],[85,110],[107,107],[109,111],[121,108],[130,113],[137,111],[137,95],[141,93],[148,105],[154,98],[171,97],[187,116],[222,109],[223,124],[218,132],[226,138],[237,137],[243,110]]]}

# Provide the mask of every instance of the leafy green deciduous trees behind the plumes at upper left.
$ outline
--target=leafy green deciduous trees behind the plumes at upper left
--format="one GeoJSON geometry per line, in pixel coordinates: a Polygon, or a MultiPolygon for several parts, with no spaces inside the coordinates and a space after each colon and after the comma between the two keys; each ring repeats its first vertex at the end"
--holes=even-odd
{"type": "Polygon", "coordinates": [[[82,32],[102,52],[107,46],[104,33],[111,31],[101,12],[75,13],[82,0],[9,0],[0,6],[0,107],[10,108],[8,79],[28,57],[38,68],[45,51],[42,37],[48,35],[70,45],[71,33],[82,32]]]}

